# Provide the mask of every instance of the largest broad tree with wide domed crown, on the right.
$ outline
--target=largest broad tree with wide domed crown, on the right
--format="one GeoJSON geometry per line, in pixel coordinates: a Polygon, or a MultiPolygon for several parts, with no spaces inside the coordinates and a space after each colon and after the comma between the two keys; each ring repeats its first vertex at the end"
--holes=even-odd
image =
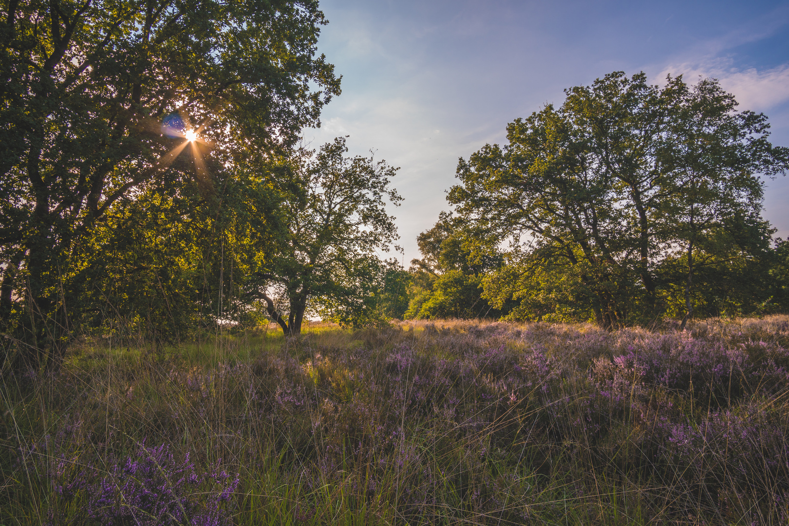
{"type": "Polygon", "coordinates": [[[544,283],[559,282],[546,281],[552,269],[576,277],[574,300],[588,300],[601,326],[654,319],[668,285],[661,260],[726,228],[735,212],[757,218],[759,177],[785,173],[789,150],[769,144],[763,114],[735,112],[716,80],[690,88],[669,77],[661,89],[643,73],[611,73],[565,92],[559,109],[510,123],[507,146],[461,159],[462,185],[448,200],[467,222],[518,248],[505,269],[510,285],[489,279],[488,297],[535,298],[511,288],[524,283],[514,274],[540,269],[544,283]],[[684,218],[701,207],[704,226],[694,220],[690,234],[684,218]]]}

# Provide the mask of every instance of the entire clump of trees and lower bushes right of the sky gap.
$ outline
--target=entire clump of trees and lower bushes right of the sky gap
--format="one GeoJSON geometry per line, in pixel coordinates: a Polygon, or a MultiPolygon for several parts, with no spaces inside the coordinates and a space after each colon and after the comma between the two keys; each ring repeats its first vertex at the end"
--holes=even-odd
{"type": "Polygon", "coordinates": [[[460,159],[421,234],[406,315],[593,321],[789,307],[789,242],[761,217],[789,167],[764,114],[713,79],[615,72],[507,125],[460,159]]]}

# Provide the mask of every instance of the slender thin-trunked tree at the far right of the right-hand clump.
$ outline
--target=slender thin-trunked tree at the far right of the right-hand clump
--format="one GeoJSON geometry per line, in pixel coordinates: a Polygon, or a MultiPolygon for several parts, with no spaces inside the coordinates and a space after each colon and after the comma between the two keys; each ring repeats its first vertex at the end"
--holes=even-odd
{"type": "Polygon", "coordinates": [[[707,245],[705,252],[714,254],[710,241],[721,233],[737,237],[750,230],[750,244],[761,246],[745,253],[765,250],[772,232],[764,232],[767,226],[759,235],[763,183],[754,174],[785,170],[787,149],[767,142],[765,115],[735,112],[734,96],[714,80],[701,80],[690,89],[669,78],[664,93],[671,101],[670,118],[658,155],[671,198],[663,200],[659,215],[671,241],[685,247],[684,329],[694,313],[691,293],[699,263],[694,249],[707,245]]]}

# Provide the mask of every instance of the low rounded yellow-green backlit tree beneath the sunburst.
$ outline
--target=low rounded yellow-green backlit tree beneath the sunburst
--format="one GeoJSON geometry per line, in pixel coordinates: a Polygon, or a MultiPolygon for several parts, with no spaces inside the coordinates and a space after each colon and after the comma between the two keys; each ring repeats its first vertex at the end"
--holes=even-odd
{"type": "Polygon", "coordinates": [[[230,170],[216,192],[173,181],[119,200],[72,256],[70,323],[80,334],[160,349],[218,325],[256,326],[265,314],[240,291],[271,257],[274,196],[230,170]]]}

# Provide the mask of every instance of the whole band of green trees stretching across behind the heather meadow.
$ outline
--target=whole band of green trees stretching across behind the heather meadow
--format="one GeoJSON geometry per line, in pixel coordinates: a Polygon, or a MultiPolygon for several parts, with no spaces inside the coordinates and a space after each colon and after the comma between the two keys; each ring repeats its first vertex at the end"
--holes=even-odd
{"type": "Polygon", "coordinates": [[[377,256],[398,239],[397,169],[344,137],[300,146],[341,92],[317,3],[211,5],[9,14],[3,371],[57,369],[84,335],[155,347],[270,320],[299,334],[307,316],[616,328],[789,310],[789,243],[761,218],[789,149],[716,80],[611,73],[513,121],[460,160],[453,212],[406,270],[377,256]]]}

